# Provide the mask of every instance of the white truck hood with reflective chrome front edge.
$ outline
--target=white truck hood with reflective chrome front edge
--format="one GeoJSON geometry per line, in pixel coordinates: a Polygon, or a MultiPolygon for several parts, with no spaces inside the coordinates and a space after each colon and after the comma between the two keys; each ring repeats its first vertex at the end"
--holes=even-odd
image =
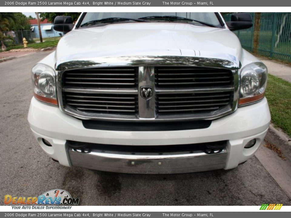
{"type": "Polygon", "coordinates": [[[242,48],[228,29],[182,23],[118,23],[75,29],[61,38],[55,69],[192,65],[240,68],[242,48]]]}

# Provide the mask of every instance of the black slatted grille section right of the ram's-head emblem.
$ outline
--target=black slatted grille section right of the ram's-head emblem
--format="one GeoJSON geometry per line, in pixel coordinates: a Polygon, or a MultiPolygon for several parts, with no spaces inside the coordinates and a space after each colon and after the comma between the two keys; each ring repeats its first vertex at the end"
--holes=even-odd
{"type": "Polygon", "coordinates": [[[158,90],[168,93],[156,96],[158,114],[211,114],[232,104],[233,91],[227,90],[233,84],[230,70],[156,67],[155,83],[158,90]],[[223,87],[225,91],[217,91],[223,87]],[[199,89],[204,91],[197,92],[199,89]]]}

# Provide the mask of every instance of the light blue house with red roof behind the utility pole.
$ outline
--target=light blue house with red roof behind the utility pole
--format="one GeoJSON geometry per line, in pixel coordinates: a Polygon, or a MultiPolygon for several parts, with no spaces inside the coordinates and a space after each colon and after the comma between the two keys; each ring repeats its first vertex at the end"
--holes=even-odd
{"type": "MultiPolygon", "coordinates": [[[[34,38],[39,38],[39,32],[38,32],[38,25],[37,25],[37,19],[29,20],[29,23],[31,25],[31,31],[34,34],[34,38]]],[[[43,21],[40,21],[40,28],[42,31],[42,38],[48,38],[48,37],[58,37],[62,36],[62,32],[55,31],[52,28],[52,23],[48,21],[48,19],[44,19],[43,21]]]]}

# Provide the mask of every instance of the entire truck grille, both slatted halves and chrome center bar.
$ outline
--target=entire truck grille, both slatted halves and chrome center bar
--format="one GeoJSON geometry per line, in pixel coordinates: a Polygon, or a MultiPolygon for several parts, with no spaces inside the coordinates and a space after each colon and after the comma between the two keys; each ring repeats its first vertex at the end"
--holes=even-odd
{"type": "Polygon", "coordinates": [[[108,67],[62,71],[59,76],[61,109],[79,118],[214,119],[236,109],[236,70],[108,67]],[[152,87],[153,97],[141,97],[142,87],[152,87]]]}

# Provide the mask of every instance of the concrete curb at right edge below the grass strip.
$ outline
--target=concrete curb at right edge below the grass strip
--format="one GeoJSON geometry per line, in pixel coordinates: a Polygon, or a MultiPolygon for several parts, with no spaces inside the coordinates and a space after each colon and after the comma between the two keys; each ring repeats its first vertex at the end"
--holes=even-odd
{"type": "Polygon", "coordinates": [[[266,140],[276,145],[284,156],[291,161],[291,138],[287,134],[282,130],[277,130],[273,124],[270,124],[266,140]]]}

